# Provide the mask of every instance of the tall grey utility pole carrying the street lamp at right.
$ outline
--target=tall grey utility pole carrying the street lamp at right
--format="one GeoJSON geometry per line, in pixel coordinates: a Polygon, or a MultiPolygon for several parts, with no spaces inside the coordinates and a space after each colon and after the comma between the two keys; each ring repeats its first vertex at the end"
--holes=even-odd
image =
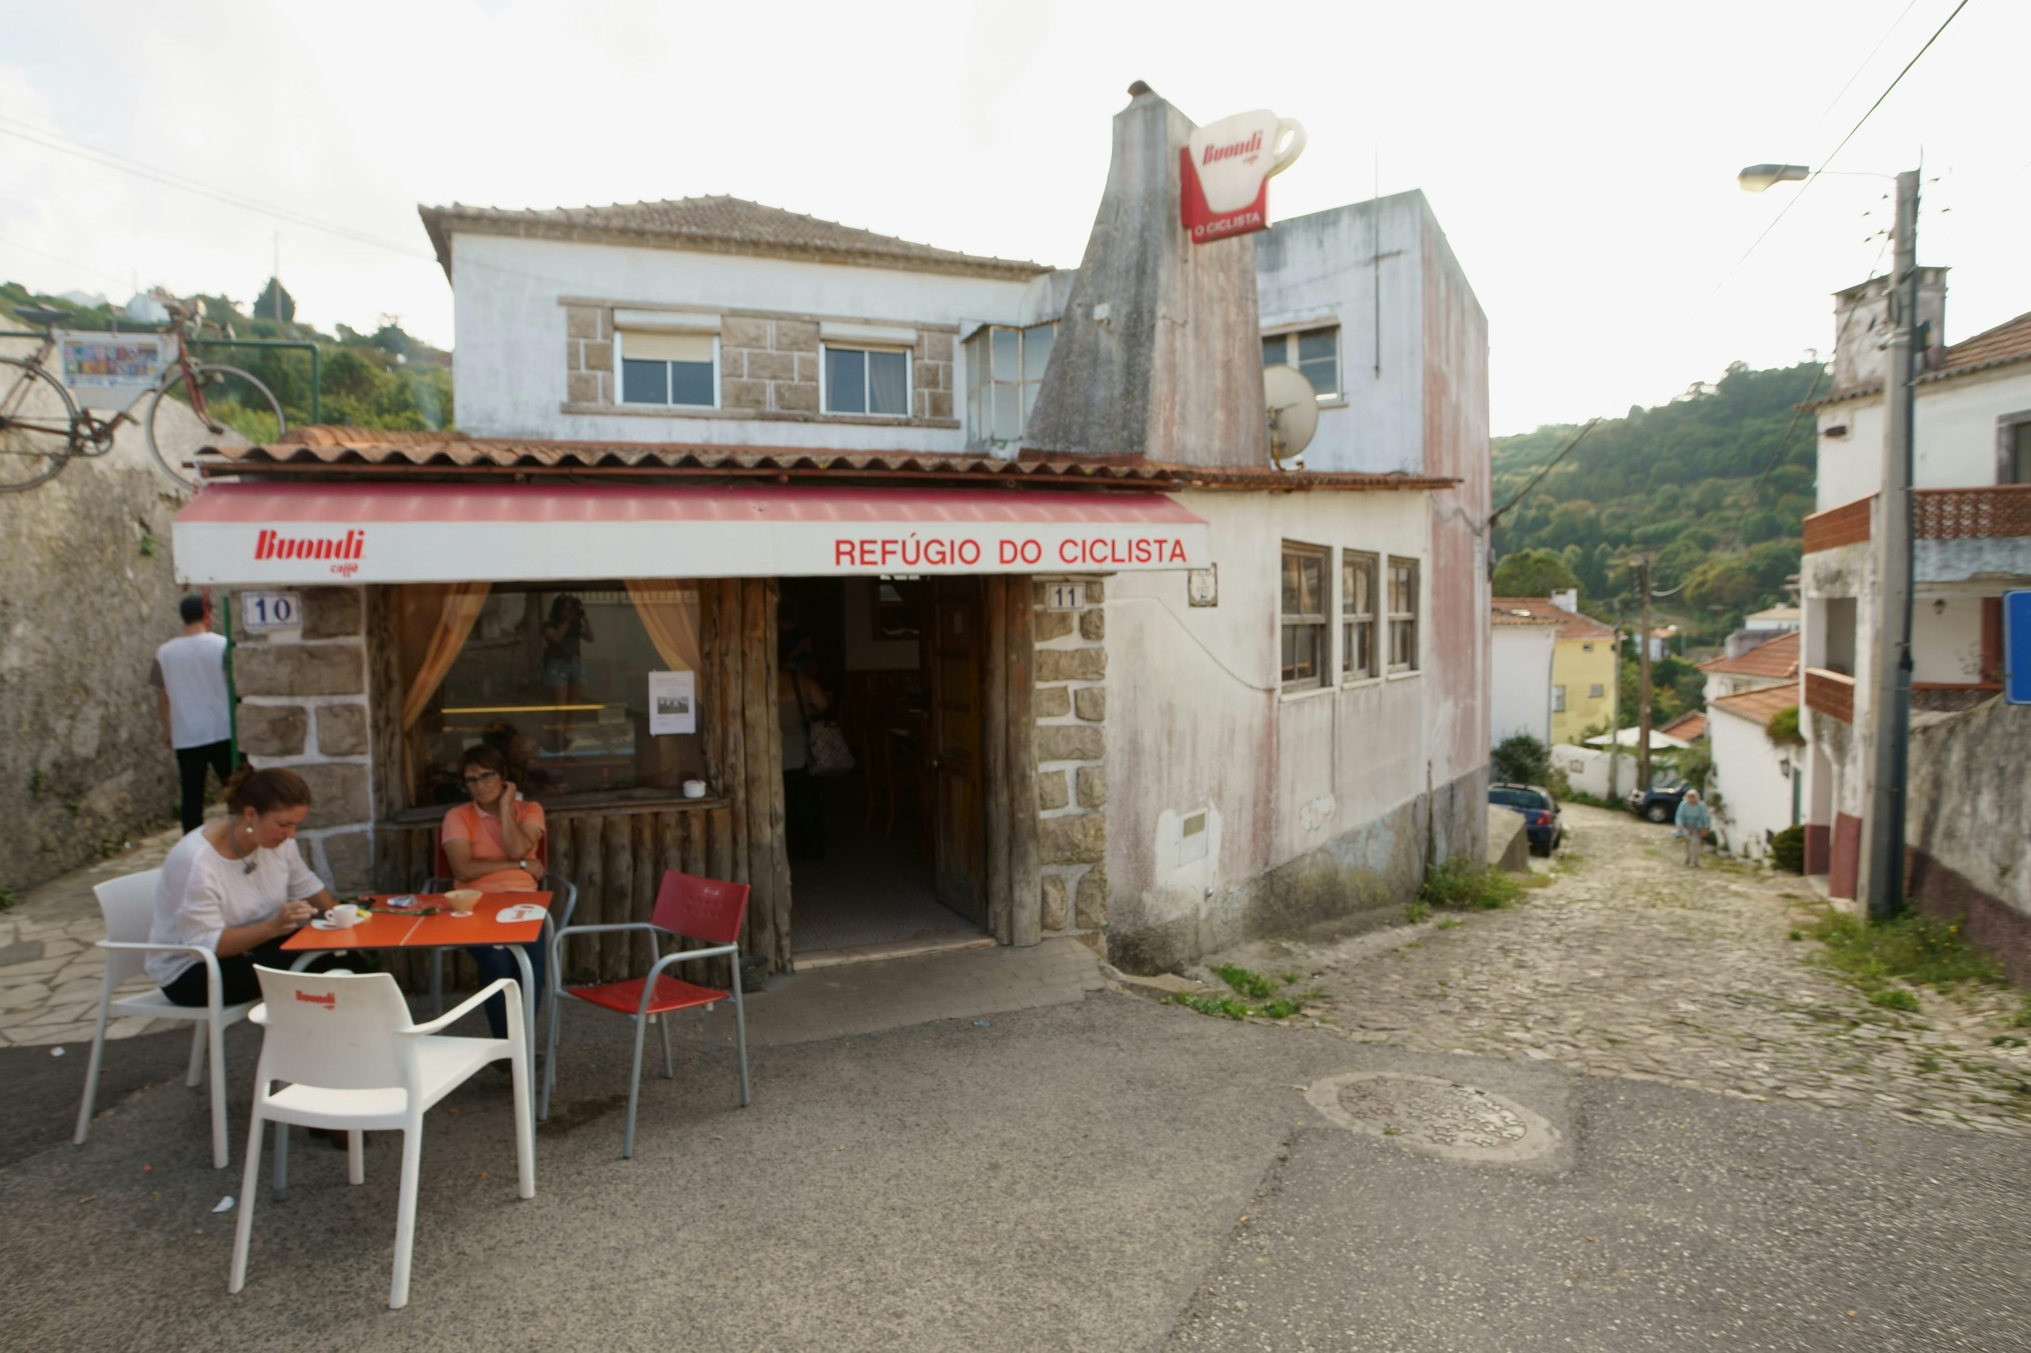
{"type": "Polygon", "coordinates": [[[1869,813],[1860,895],[1871,921],[1903,909],[1905,771],[1911,753],[1911,418],[1917,371],[1917,170],[1897,174],[1891,264],[1889,436],[1877,536],[1877,647],[1869,708],[1869,813]]]}

